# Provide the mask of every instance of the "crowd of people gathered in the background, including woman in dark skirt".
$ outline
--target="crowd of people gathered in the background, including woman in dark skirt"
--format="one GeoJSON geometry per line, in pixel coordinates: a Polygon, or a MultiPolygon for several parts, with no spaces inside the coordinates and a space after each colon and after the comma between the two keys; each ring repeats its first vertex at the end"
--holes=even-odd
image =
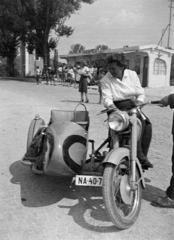
{"type": "Polygon", "coordinates": [[[81,93],[81,102],[89,102],[88,98],[88,85],[90,82],[95,81],[98,85],[99,104],[102,103],[101,79],[106,74],[106,70],[100,66],[88,66],[86,61],[81,61],[80,64],[75,66],[67,66],[63,63],[58,69],[48,67],[40,70],[39,66],[36,67],[36,83],[40,83],[40,79],[46,80],[46,85],[56,85],[55,78],[58,79],[64,86],[74,84],[77,88],[79,85],[79,92],[81,93]],[[85,97],[85,99],[84,99],[85,97]]]}

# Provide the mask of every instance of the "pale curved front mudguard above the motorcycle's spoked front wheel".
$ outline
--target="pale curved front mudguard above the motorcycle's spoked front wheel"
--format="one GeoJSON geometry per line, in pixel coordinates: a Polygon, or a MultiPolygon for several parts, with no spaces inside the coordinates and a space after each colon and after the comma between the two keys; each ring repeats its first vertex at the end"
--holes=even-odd
{"type": "MultiPolygon", "coordinates": [[[[123,148],[123,147],[113,149],[112,151],[110,151],[107,154],[107,156],[105,157],[105,159],[103,161],[103,164],[112,163],[114,165],[118,165],[120,160],[123,159],[123,158],[128,158],[128,159],[130,158],[130,150],[129,149],[123,148]]],[[[140,162],[137,158],[136,158],[136,164],[137,164],[137,169],[138,169],[139,174],[140,174],[142,187],[146,188],[141,164],[140,164],[140,162]]]]}

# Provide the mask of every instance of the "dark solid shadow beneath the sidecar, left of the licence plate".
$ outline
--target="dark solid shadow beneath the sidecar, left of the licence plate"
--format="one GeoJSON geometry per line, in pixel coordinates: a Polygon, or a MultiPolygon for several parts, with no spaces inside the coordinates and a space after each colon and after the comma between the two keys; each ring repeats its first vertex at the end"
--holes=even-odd
{"type": "Polygon", "coordinates": [[[70,188],[72,178],[35,175],[30,166],[24,166],[20,161],[10,166],[11,183],[20,185],[21,201],[26,207],[42,207],[59,202],[69,195],[75,196],[70,188]]]}

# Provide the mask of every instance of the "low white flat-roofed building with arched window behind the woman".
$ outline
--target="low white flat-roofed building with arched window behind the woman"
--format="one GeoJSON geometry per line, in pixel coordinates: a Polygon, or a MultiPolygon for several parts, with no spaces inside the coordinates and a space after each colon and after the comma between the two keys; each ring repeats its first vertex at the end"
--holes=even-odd
{"type": "Polygon", "coordinates": [[[96,52],[95,49],[86,50],[80,54],[61,55],[68,65],[74,65],[81,59],[89,64],[95,62],[103,65],[107,56],[113,53],[123,52],[127,59],[128,68],[135,70],[139,75],[143,87],[170,86],[171,60],[174,51],[157,45],[125,46],[118,49],[110,49],[96,52]]]}

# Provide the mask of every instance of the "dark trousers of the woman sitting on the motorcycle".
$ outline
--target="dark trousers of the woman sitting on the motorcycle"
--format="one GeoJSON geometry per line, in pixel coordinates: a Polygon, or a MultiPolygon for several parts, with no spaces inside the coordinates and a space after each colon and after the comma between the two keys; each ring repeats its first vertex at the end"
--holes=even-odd
{"type": "MultiPolygon", "coordinates": [[[[122,111],[135,107],[130,100],[116,101],[114,104],[122,111]]],[[[147,117],[146,120],[144,120],[138,115],[138,118],[142,123],[142,133],[139,141],[137,142],[137,157],[139,160],[145,160],[147,159],[148,150],[152,140],[152,124],[147,117]]]]}

